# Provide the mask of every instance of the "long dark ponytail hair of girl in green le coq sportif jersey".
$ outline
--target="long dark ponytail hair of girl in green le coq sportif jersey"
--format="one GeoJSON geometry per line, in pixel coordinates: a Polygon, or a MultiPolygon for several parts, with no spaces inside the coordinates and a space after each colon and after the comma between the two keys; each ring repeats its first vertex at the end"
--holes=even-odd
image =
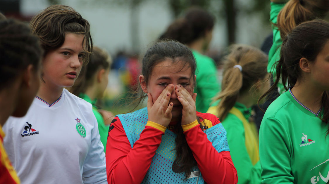
{"type": "MultiPolygon", "coordinates": [[[[301,79],[299,60],[306,58],[314,61],[324,45],[329,41],[329,23],[323,20],[312,20],[301,23],[283,40],[280,60],[276,62],[275,82],[271,88],[261,96],[266,97],[275,90],[280,78],[286,90],[292,88],[301,79]],[[288,86],[287,86],[288,84],[288,86]]],[[[324,91],[321,106],[324,123],[329,122],[329,93],[324,91]]],[[[258,102],[260,101],[258,100],[258,102]]]]}

